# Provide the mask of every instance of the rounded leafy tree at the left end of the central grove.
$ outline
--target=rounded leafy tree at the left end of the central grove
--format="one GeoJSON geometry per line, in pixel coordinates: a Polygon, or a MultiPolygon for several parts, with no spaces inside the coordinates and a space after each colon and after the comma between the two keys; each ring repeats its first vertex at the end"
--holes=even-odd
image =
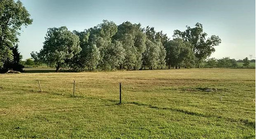
{"type": "Polygon", "coordinates": [[[56,72],[81,50],[79,37],[68,31],[66,26],[48,29],[45,39],[38,57],[49,66],[55,66],[56,72]]]}

